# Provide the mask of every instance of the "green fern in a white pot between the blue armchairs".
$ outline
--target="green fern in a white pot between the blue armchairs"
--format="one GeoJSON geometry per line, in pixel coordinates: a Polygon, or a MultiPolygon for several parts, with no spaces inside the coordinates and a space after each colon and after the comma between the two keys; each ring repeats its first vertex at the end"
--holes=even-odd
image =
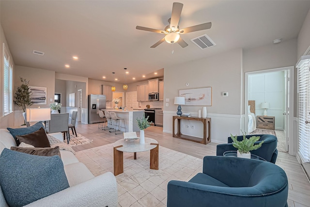
{"type": "Polygon", "coordinates": [[[243,134],[243,140],[242,141],[237,140],[237,135],[233,136],[231,134],[231,138],[233,140],[233,146],[238,149],[237,150],[237,157],[250,159],[251,158],[250,151],[260,148],[263,144],[263,141],[260,142],[259,144],[254,144],[255,142],[259,141],[259,139],[261,137],[252,136],[252,137],[247,139],[246,138],[246,132],[242,131],[242,134],[243,134]]]}

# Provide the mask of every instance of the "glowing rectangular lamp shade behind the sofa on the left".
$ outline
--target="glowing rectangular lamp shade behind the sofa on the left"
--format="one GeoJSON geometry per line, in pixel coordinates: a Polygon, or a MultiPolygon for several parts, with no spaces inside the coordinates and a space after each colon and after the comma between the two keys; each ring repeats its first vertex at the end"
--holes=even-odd
{"type": "Polygon", "coordinates": [[[50,108],[26,109],[27,122],[39,122],[50,120],[50,108]]]}

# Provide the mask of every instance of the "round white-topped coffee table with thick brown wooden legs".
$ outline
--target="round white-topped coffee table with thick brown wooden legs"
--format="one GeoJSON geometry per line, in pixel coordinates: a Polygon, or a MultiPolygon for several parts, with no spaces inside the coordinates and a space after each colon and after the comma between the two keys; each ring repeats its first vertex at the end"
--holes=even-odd
{"type": "Polygon", "coordinates": [[[134,159],[137,159],[137,152],[150,150],[150,169],[158,170],[158,150],[159,144],[155,139],[145,137],[145,143],[140,144],[137,140],[118,140],[113,143],[113,162],[114,175],[124,173],[124,157],[123,152],[133,152],[134,159]]]}

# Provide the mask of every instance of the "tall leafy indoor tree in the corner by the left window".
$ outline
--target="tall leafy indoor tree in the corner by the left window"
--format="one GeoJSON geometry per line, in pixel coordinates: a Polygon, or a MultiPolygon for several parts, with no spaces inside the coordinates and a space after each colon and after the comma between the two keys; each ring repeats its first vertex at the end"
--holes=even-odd
{"type": "MultiPolygon", "coordinates": [[[[16,88],[16,92],[14,95],[14,104],[17,106],[21,107],[23,109],[23,112],[26,111],[26,108],[31,106],[33,102],[31,101],[31,90],[30,87],[28,86],[29,80],[23,79],[19,77],[21,81],[21,86],[18,86],[16,88]]],[[[24,120],[24,125],[26,125],[26,122],[24,120]]]]}

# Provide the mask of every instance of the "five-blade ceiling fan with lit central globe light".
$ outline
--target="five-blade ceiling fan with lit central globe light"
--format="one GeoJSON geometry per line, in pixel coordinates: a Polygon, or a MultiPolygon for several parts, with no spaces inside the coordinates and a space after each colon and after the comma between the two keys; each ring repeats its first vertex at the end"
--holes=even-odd
{"type": "Polygon", "coordinates": [[[148,32],[156,32],[156,33],[163,33],[165,34],[165,37],[156,42],[154,45],[151,46],[151,48],[156,48],[158,45],[163,43],[165,40],[168,43],[178,43],[182,48],[185,48],[188,46],[188,44],[180,37],[180,34],[185,34],[189,32],[196,32],[196,31],[201,31],[201,30],[207,30],[211,28],[212,23],[203,23],[191,27],[186,27],[183,29],[179,29],[179,20],[181,16],[183,8],[183,3],[178,3],[174,2],[172,6],[172,13],[171,13],[171,18],[168,20],[170,25],[168,25],[164,30],[156,30],[152,28],[147,28],[147,27],[140,27],[137,26],[137,30],[144,30],[148,32]]]}

